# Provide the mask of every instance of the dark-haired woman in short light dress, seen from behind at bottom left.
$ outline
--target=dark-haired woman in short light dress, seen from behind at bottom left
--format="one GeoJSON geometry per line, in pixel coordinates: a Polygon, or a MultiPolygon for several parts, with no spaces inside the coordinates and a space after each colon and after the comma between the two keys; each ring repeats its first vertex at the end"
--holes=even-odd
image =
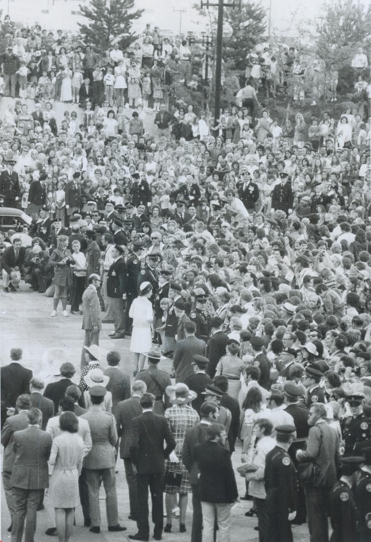
{"type": "Polygon", "coordinates": [[[52,444],[49,463],[53,473],[49,483],[49,500],[55,508],[55,526],[59,542],[71,538],[75,507],[80,502],[79,474],[82,468],[84,441],[77,434],[79,421],[73,412],[59,417],[62,434],[52,444]]]}

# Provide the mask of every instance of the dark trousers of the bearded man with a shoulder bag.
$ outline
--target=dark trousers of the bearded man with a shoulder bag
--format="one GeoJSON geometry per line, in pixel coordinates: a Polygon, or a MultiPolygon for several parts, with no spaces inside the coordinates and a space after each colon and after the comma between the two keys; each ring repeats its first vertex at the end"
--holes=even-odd
{"type": "Polygon", "coordinates": [[[311,542],[329,542],[327,487],[305,486],[306,514],[311,542]]]}

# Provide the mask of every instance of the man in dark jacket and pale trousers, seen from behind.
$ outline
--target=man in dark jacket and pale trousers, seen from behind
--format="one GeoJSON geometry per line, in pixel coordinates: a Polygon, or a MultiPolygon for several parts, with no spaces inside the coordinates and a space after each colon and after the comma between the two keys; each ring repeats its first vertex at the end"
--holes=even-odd
{"type": "Polygon", "coordinates": [[[194,447],[194,458],[200,469],[203,538],[207,540],[214,538],[215,521],[218,521],[220,539],[229,539],[232,504],[239,501],[231,455],[225,447],[226,440],[225,427],[214,423],[206,429],[206,442],[194,447]]]}

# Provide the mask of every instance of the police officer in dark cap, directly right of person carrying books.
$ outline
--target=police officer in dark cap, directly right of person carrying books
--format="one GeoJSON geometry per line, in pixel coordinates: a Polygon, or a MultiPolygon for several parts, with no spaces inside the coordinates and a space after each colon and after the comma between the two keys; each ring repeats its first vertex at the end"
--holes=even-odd
{"type": "Polygon", "coordinates": [[[263,525],[265,540],[292,542],[290,521],[297,511],[297,476],[287,453],[295,439],[294,425],[277,425],[277,446],[267,453],[264,482],[266,491],[263,525]]]}

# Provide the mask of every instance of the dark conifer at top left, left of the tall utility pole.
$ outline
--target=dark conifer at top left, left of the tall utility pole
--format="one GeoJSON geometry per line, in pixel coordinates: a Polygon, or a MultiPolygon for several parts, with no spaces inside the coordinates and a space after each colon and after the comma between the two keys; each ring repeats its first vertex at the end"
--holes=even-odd
{"type": "Polygon", "coordinates": [[[132,11],[134,0],[91,0],[80,4],[81,14],[90,22],[79,23],[82,39],[98,51],[106,51],[117,40],[125,49],[136,40],[131,33],[132,22],[142,16],[143,9],[132,11]]]}

